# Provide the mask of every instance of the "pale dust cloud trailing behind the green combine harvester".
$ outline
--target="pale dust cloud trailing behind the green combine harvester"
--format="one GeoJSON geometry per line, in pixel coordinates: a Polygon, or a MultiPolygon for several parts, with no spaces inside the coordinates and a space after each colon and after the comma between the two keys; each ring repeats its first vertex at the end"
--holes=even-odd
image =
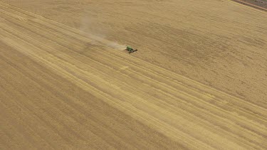
{"type": "Polygon", "coordinates": [[[124,50],[126,45],[117,41],[107,40],[108,31],[101,27],[97,22],[93,21],[93,17],[86,13],[80,21],[80,31],[85,33],[85,36],[94,40],[95,45],[106,45],[115,50],[124,50]]]}

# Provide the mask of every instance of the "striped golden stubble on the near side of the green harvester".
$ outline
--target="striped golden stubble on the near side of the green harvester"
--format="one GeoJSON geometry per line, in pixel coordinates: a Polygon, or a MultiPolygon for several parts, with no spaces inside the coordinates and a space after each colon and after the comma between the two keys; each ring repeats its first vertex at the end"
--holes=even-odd
{"type": "Polygon", "coordinates": [[[0,149],[267,149],[264,107],[4,3],[0,33],[0,149]]]}

